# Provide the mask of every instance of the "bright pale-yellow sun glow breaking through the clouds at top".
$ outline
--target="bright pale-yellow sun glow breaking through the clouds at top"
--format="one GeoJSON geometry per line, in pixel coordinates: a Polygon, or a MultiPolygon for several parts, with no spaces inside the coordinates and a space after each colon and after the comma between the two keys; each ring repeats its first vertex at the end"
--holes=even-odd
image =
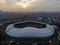
{"type": "Polygon", "coordinates": [[[22,8],[26,8],[30,6],[35,0],[20,0],[20,2],[16,2],[16,5],[21,6],[22,8]]]}

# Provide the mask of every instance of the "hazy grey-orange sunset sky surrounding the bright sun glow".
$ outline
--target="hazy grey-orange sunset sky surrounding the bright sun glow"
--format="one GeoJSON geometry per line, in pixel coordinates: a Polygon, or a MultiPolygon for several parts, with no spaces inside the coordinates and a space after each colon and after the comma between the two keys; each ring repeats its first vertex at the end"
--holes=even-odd
{"type": "Polygon", "coordinates": [[[0,0],[0,10],[60,12],[60,0],[35,0],[35,2],[31,2],[26,8],[21,7],[21,5],[16,5],[19,1],[20,0],[0,0]]]}

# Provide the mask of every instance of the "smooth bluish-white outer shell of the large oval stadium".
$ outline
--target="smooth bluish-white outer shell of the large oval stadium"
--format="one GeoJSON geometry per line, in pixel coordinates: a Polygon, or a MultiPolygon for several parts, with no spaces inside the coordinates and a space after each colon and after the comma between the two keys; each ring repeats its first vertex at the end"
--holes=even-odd
{"type": "Polygon", "coordinates": [[[55,30],[54,27],[49,24],[46,24],[45,28],[16,28],[14,27],[14,24],[10,24],[7,26],[5,32],[7,33],[7,35],[12,37],[48,37],[52,36],[55,30]]]}

